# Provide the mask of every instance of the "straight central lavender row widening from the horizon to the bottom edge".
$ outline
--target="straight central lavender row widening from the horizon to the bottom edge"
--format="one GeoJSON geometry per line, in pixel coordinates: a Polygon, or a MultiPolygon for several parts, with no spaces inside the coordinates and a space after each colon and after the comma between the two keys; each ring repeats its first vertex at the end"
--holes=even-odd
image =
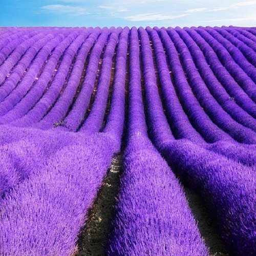
{"type": "Polygon", "coordinates": [[[208,255],[178,180],[146,136],[136,28],[129,42],[129,139],[106,253],[208,255]]]}

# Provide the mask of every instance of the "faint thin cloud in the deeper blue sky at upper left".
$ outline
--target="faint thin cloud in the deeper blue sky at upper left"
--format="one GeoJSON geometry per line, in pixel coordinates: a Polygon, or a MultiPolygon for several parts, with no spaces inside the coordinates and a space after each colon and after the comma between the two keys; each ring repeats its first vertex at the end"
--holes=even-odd
{"type": "Polygon", "coordinates": [[[70,5],[45,5],[41,7],[42,10],[52,13],[67,13],[70,15],[84,15],[88,14],[85,8],[83,7],[74,7],[70,5]]]}

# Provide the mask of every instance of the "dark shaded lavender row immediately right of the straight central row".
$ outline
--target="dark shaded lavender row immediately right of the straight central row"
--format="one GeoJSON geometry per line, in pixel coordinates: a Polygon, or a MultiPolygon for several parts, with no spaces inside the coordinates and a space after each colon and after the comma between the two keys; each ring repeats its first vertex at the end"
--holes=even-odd
{"type": "MultiPolygon", "coordinates": [[[[153,65],[151,74],[154,74],[153,65]]],[[[218,222],[222,237],[233,248],[233,253],[252,253],[255,243],[255,172],[250,167],[228,160],[188,140],[174,140],[172,136],[165,139],[167,136],[164,137],[163,133],[166,129],[163,127],[166,119],[160,117],[157,111],[159,99],[154,88],[154,83],[145,80],[147,104],[153,104],[148,113],[148,126],[152,129],[155,145],[179,178],[204,198],[212,218],[218,222]]],[[[241,150],[245,151],[243,148],[241,150]]]]}

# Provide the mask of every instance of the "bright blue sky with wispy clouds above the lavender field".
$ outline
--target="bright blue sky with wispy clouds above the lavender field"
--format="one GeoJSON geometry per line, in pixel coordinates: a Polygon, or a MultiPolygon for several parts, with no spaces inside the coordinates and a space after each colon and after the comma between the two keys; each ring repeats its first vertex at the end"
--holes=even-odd
{"type": "Polygon", "coordinates": [[[256,1],[0,0],[0,26],[256,27],[256,1]]]}

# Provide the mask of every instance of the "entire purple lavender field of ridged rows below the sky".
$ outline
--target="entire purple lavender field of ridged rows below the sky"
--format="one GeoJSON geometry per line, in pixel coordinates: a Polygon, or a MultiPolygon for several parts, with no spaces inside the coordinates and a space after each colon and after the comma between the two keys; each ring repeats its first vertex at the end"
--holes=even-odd
{"type": "Polygon", "coordinates": [[[256,28],[0,28],[0,151],[0,255],[256,255],[256,28]]]}

